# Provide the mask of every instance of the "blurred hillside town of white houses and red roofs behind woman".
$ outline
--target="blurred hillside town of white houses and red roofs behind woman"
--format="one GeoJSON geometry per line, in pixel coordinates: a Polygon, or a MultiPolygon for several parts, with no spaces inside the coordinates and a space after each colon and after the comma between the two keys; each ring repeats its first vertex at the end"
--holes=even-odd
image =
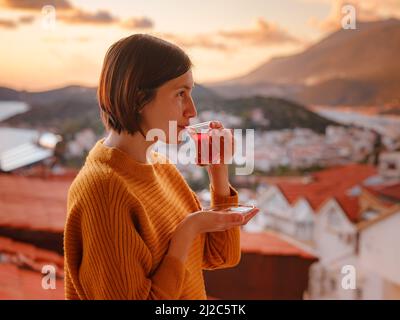
{"type": "MultiPolygon", "coordinates": [[[[226,127],[241,125],[218,112],[201,113],[199,121],[208,117],[224,119],[226,127]]],[[[0,146],[0,270],[7,274],[0,279],[1,298],[63,297],[65,204],[79,168],[60,157],[84,159],[101,137],[87,128],[60,147],[62,138],[51,132],[1,127],[0,135],[7,137],[0,146]],[[57,270],[53,291],[40,287],[43,265],[57,270]]],[[[378,138],[348,126],[328,126],[325,134],[257,131],[257,174],[233,177],[232,184],[240,201],[260,213],[242,228],[240,266],[205,272],[209,298],[398,299],[400,253],[391,244],[400,227],[400,152],[378,146],[378,138]],[[287,172],[276,174],[283,167],[287,172]],[[344,266],[356,270],[354,290],[341,286],[344,266]],[[249,279],[254,268],[259,271],[249,279]],[[244,274],[249,282],[238,282],[244,274]],[[289,274],[292,280],[284,280],[289,274]]],[[[188,181],[204,178],[200,167],[177,167],[188,181]]],[[[208,188],[196,192],[208,206],[208,188]]]]}

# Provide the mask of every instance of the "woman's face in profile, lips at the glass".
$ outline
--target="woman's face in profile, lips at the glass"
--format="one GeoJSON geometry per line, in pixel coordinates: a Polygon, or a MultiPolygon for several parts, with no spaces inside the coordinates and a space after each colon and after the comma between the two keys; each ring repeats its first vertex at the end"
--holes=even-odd
{"type": "MultiPolygon", "coordinates": [[[[183,127],[189,125],[189,119],[196,117],[197,111],[191,96],[193,86],[192,71],[189,70],[159,87],[154,100],[141,112],[144,132],[154,128],[161,129],[165,134],[165,143],[176,143],[177,138],[172,138],[172,141],[169,139],[169,121],[175,121],[173,127],[176,127],[179,135],[183,127]]],[[[173,133],[174,130],[171,134],[173,133]]]]}

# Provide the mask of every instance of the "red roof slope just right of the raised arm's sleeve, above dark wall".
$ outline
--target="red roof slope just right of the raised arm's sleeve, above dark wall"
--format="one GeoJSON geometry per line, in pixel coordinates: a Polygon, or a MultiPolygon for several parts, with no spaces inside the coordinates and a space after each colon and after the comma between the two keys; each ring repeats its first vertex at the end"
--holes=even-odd
{"type": "Polygon", "coordinates": [[[245,232],[240,235],[241,250],[246,253],[259,253],[270,256],[298,256],[305,259],[316,259],[316,257],[282,239],[279,235],[268,232],[245,232]]]}

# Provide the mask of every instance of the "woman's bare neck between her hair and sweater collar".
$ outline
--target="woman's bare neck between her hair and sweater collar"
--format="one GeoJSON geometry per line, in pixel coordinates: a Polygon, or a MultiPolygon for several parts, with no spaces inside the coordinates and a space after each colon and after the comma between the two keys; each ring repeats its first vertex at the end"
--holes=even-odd
{"type": "Polygon", "coordinates": [[[111,130],[103,144],[127,153],[138,162],[148,163],[146,153],[152,144],[154,144],[154,141],[146,141],[139,132],[129,135],[123,132],[119,134],[111,130]]]}

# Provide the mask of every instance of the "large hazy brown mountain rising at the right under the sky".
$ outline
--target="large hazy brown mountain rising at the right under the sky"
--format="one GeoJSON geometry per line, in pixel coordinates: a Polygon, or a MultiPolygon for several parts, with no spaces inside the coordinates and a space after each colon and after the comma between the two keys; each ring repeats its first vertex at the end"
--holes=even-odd
{"type": "Polygon", "coordinates": [[[288,97],[307,104],[380,104],[400,98],[400,20],[359,22],[301,53],[208,86],[225,97],[288,97]]]}

